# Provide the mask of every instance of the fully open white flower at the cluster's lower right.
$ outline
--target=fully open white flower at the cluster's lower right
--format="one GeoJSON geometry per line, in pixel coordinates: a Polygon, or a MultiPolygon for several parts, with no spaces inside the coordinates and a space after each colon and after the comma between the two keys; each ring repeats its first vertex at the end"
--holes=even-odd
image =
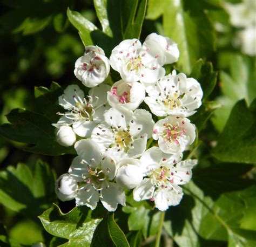
{"type": "Polygon", "coordinates": [[[133,189],[134,200],[154,201],[161,211],[178,205],[183,197],[179,185],[190,181],[191,169],[197,164],[197,160],[180,161],[181,156],[181,153],[165,154],[158,147],[146,150],[140,158],[140,163],[147,177],[133,189]]]}

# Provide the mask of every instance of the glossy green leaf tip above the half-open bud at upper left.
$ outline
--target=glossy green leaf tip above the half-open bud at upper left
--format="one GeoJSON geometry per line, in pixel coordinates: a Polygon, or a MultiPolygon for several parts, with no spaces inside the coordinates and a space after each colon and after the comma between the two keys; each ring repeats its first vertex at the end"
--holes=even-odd
{"type": "Polygon", "coordinates": [[[67,15],[73,26],[78,30],[84,46],[93,45],[91,32],[98,30],[97,26],[83,17],[79,12],[67,10],[67,15]]]}

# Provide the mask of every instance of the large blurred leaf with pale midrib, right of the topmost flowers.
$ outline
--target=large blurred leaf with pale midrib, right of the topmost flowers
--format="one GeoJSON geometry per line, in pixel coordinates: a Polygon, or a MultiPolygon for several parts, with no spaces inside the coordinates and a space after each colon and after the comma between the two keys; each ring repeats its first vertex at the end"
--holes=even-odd
{"type": "Polygon", "coordinates": [[[178,69],[190,73],[199,58],[206,58],[213,52],[214,28],[201,1],[197,4],[186,0],[168,1],[163,14],[164,32],[178,44],[178,69]]]}

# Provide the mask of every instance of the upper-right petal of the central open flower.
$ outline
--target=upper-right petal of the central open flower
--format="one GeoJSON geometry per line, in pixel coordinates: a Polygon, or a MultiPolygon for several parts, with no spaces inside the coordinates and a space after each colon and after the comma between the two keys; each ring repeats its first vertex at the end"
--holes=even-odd
{"type": "Polygon", "coordinates": [[[133,136],[147,134],[151,138],[154,121],[152,115],[145,109],[137,109],[132,116],[133,122],[130,123],[130,133],[133,136]]]}

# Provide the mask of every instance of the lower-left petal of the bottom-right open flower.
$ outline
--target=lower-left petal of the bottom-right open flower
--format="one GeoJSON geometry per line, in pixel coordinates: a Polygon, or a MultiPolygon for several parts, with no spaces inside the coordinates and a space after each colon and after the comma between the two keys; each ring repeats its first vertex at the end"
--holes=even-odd
{"type": "Polygon", "coordinates": [[[147,200],[152,197],[154,186],[150,179],[144,179],[137,187],[133,189],[133,199],[137,202],[147,200]]]}

